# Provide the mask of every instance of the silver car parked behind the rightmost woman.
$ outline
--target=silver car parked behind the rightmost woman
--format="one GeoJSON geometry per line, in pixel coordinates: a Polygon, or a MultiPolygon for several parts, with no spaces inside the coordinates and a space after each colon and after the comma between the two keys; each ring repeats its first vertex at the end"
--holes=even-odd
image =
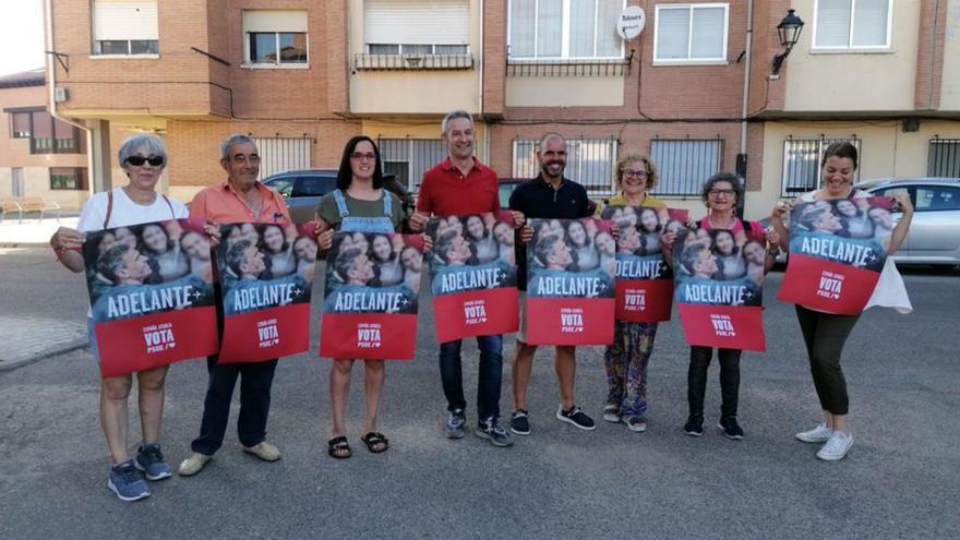
{"type": "MultiPolygon", "coordinates": [[[[878,196],[907,191],[913,221],[893,260],[901,264],[960,264],[960,178],[887,178],[856,189],[878,196]]],[[[893,223],[901,214],[893,214],[893,223]]]]}

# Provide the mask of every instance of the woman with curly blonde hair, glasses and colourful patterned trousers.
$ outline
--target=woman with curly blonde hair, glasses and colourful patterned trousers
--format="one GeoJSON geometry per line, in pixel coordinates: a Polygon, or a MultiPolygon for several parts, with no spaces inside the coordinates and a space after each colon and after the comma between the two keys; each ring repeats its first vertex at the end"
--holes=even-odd
{"type": "MultiPolygon", "coordinates": [[[[608,204],[665,208],[667,205],[662,201],[647,193],[657,185],[658,178],[657,167],[649,157],[640,154],[623,156],[616,163],[613,178],[620,188],[620,193],[610,197],[608,204]]],[[[620,223],[628,226],[627,215],[636,217],[636,211],[624,209],[628,212],[623,213],[620,223]]],[[[601,208],[598,208],[599,212],[601,208]]],[[[637,224],[637,227],[640,226],[636,219],[633,223],[637,224]]],[[[616,321],[613,324],[613,345],[607,346],[603,353],[608,383],[603,420],[623,421],[631,431],[644,432],[647,430],[647,364],[653,351],[658,323],[616,321]]]]}

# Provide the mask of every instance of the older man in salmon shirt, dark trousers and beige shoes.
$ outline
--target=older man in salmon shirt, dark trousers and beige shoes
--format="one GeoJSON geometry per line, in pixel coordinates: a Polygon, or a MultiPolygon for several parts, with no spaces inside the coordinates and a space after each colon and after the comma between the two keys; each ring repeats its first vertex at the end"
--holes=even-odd
{"type": "MultiPolygon", "coordinates": [[[[247,135],[231,135],[220,145],[220,166],[227,180],[211,185],[193,197],[190,217],[211,224],[261,223],[290,224],[287,203],[276,191],[256,180],[260,173],[260,154],[247,135]]],[[[223,290],[216,284],[216,295],[223,290]]],[[[217,301],[218,307],[221,302],[217,301]]],[[[217,309],[217,326],[223,333],[224,314],[217,309]]],[[[193,476],[203,469],[224,442],[230,417],[233,387],[240,377],[240,417],[237,431],[243,449],[265,461],[276,461],[280,451],[266,442],[266,419],[269,413],[271,386],[277,360],[256,363],[217,362],[217,356],[207,358],[209,385],[203,407],[200,436],[190,447],[193,453],[180,464],[181,476],[193,476]]]]}

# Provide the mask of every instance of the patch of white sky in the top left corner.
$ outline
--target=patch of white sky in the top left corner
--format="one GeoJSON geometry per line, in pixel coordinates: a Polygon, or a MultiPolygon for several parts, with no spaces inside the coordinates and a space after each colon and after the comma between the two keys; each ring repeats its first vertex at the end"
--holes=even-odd
{"type": "Polygon", "coordinates": [[[43,0],[0,0],[0,75],[43,67],[43,0]]]}

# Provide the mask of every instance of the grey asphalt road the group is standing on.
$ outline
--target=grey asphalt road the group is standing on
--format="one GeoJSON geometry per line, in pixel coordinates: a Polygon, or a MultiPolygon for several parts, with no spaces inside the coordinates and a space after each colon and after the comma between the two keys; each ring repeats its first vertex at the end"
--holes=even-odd
{"type": "MultiPolygon", "coordinates": [[[[0,272],[2,314],[83,321],[83,284],[48,251],[5,252],[0,272]]],[[[269,440],[281,460],[240,452],[231,424],[200,475],[152,484],[151,499],[123,503],[106,489],[91,355],[80,349],[0,373],[0,538],[960,537],[960,272],[910,271],[916,312],[871,310],[862,317],[843,362],[856,443],[836,464],[818,461],[815,445],[793,440],[817,421],[818,407],[792,307],[773,300],[780,278],[771,274],[765,290],[769,350],[745,353],[742,362],[740,442],[716,428],[700,439],[683,434],[688,348],[676,322],[657,336],[646,433],[600,420],[605,375],[595,347],[579,351],[577,396],[600,423],[597,431],[553,419],[556,381],[551,351],[543,350],[530,389],[531,436],[515,437],[512,448],[469,434],[448,441],[425,302],[420,357],[388,368],[386,454],[369,454],[359,441],[358,367],[348,410],[355,456],[326,455],[328,364],[316,358],[314,323],[311,351],[281,360],[274,383],[269,440]]],[[[317,287],[315,302],[319,296],[317,287]]],[[[512,358],[512,337],[504,349],[512,358]]],[[[465,358],[476,362],[472,343],[465,358]]],[[[707,395],[711,427],[719,415],[716,370],[707,395]]],[[[472,422],[476,369],[465,372],[472,422]]],[[[199,429],[205,384],[203,362],[170,370],[161,442],[175,466],[199,429]]],[[[134,446],[133,418],[131,433],[134,446]]]]}

